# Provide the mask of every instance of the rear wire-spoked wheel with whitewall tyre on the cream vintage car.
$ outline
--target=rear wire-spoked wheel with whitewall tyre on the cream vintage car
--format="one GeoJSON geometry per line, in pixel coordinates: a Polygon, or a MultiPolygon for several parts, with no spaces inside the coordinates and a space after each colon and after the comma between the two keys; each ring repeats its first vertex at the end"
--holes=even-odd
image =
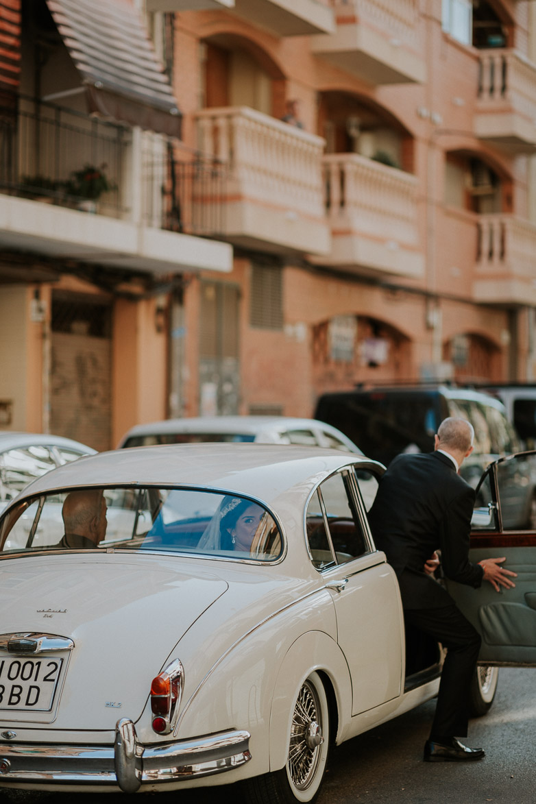
{"type": "Polygon", "coordinates": [[[313,802],[320,790],[329,748],[329,711],[317,673],[305,679],[294,704],[284,768],[246,782],[251,804],[313,802]]]}

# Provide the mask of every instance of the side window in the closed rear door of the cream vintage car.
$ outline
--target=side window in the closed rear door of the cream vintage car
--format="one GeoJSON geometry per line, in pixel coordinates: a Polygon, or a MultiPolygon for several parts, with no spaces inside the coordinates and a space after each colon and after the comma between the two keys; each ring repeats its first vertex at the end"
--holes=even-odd
{"type": "Polygon", "coordinates": [[[345,564],[368,551],[351,495],[351,475],[334,474],[318,487],[307,510],[307,538],[317,568],[345,564]]]}

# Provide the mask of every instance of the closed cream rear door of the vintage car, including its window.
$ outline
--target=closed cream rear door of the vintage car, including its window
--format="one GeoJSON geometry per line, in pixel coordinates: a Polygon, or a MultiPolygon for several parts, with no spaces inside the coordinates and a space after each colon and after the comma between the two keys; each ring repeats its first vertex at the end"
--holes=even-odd
{"type": "Polygon", "coordinates": [[[400,695],[403,623],[395,573],[371,543],[354,470],[318,486],[307,508],[307,535],[333,598],[357,715],[400,695]]]}

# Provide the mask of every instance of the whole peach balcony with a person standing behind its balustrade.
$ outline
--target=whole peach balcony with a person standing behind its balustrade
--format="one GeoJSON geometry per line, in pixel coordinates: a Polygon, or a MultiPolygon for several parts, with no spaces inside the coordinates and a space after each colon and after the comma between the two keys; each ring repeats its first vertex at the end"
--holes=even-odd
{"type": "MultiPolygon", "coordinates": [[[[246,107],[198,113],[199,148],[227,166],[220,231],[207,232],[244,248],[325,254],[321,156],[324,140],[246,107]]],[[[206,214],[219,204],[201,188],[206,214]]]]}

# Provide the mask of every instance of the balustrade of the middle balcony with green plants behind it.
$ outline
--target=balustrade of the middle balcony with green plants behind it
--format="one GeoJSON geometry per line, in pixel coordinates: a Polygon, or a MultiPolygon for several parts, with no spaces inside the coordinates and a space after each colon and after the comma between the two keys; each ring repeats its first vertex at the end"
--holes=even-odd
{"type": "Polygon", "coordinates": [[[323,162],[333,236],[350,228],[380,240],[417,244],[415,176],[359,154],[330,154],[323,162]]]}

